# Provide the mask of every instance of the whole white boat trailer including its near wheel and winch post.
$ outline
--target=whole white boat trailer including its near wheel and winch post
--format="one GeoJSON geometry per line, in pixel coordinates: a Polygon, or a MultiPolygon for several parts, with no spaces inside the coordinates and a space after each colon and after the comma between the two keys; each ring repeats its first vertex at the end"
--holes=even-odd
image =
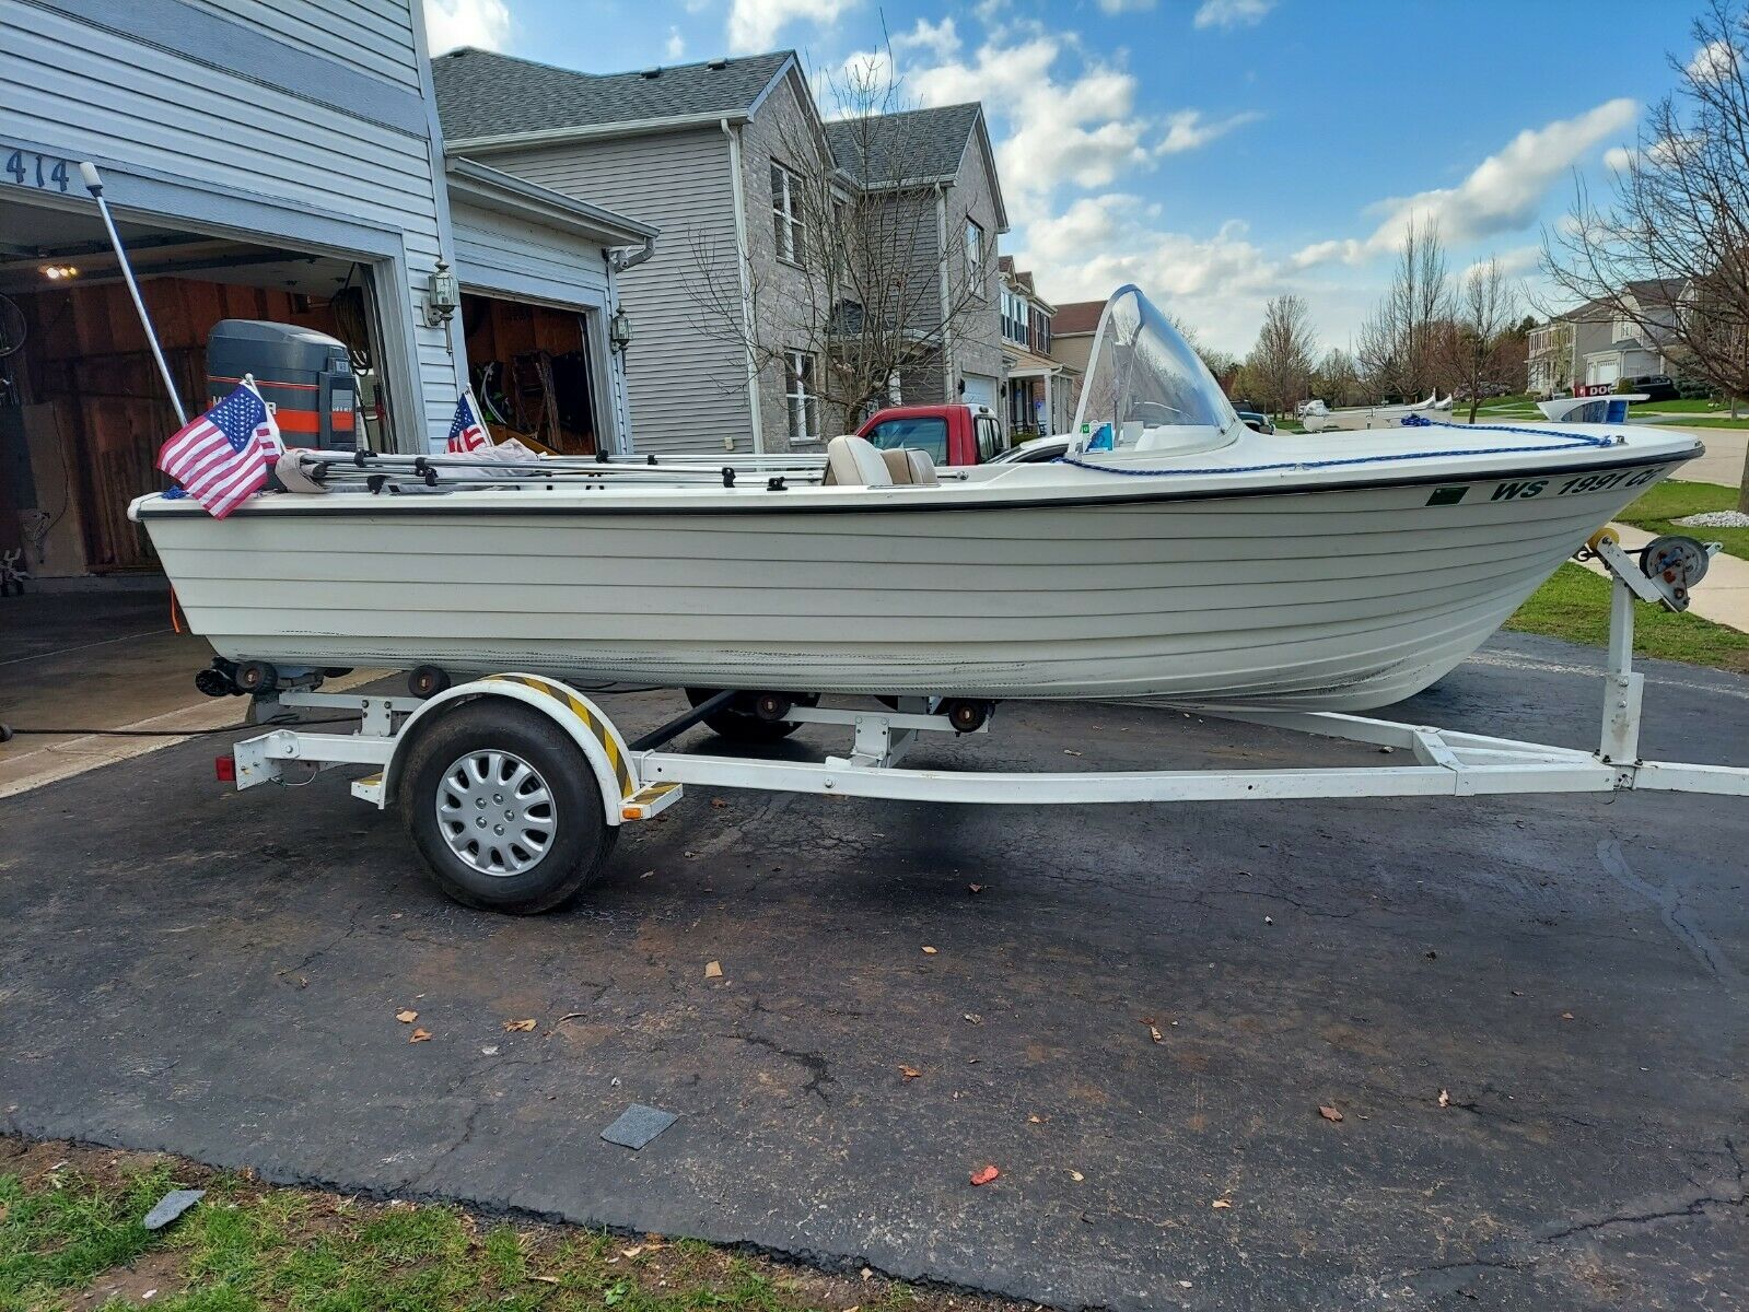
{"type": "MultiPolygon", "coordinates": [[[[1237,801],[1293,798],[1418,798],[1653,789],[1749,798],[1749,766],[1644,761],[1639,756],[1644,675],[1634,672],[1634,602],[1688,607],[1718,544],[1662,537],[1632,556],[1607,530],[1579,553],[1613,579],[1609,656],[1597,750],[1492,738],[1333,712],[1205,712],[1324,738],[1404,750],[1413,764],[1286,770],[960,771],[902,764],[925,733],[988,733],[969,703],[901,698],[869,708],[819,707],[763,694],[773,728],[833,724],[852,733],[847,756],[820,763],[752,754],[673,750],[693,726],[756,721],[733,710],[743,693],[717,693],[687,714],[626,738],[584,693],[539,675],[498,673],[448,684],[430,696],[331,694],[320,679],[278,679],[255,714],[359,712],[353,733],[273,728],[219,757],[238,789],[306,784],[336,766],[374,773],[353,796],[395,801],[437,883],[470,906],[532,913],[563,904],[600,875],[623,824],[679,801],[687,785],[815,792],[847,798],[992,805],[1237,801]]],[[[418,672],[416,672],[418,677],[418,672]]],[[[719,731],[724,731],[719,728],[719,731]]],[[[787,731],[787,729],[785,729],[787,731]]],[[[770,736],[768,736],[770,740],[770,736]]]]}

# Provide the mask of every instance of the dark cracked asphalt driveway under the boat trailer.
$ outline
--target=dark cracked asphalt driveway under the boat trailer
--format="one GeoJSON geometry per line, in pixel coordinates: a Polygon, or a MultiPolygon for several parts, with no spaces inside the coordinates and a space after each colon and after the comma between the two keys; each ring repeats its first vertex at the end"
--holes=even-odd
{"type": "MultiPolygon", "coordinates": [[[[1404,714],[1585,745],[1588,665],[1501,639],[1404,714]]],[[[1648,754],[1749,763],[1749,679],[1646,668],[1648,754]]],[[[698,792],[509,920],[338,777],[227,794],[213,750],[0,801],[0,1128],[1063,1307],[1749,1291],[1742,801],[698,792]],[[630,1102],[680,1121],[603,1142],[630,1102]]],[[[1109,705],[913,759],[1167,756],[1380,759],[1109,705]]]]}

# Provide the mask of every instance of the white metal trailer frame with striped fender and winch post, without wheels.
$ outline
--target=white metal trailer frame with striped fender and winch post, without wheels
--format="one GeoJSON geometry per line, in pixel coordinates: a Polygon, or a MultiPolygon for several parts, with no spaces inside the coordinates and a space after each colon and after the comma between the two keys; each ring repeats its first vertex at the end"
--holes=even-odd
{"type": "MultiPolygon", "coordinates": [[[[1698,544],[1693,544],[1698,548],[1698,544]]],[[[1716,544],[1700,548],[1700,574],[1716,544]]],[[[1331,712],[1251,710],[1198,712],[1296,729],[1322,738],[1401,749],[1413,764],[1305,766],[1289,770],[1135,770],[1135,771],[958,771],[911,770],[904,754],[923,733],[958,733],[939,698],[908,698],[894,708],[798,705],[782,719],[838,724],[854,731],[848,756],[826,761],[775,761],[756,756],[700,756],[668,743],[705,717],[705,708],[630,743],[612,719],[586,694],[535,675],[502,673],[458,684],[439,696],[331,694],[283,691],[268,698],[280,707],[357,710],[355,733],[310,733],[275,728],[233,749],[240,789],[268,782],[308,782],[334,766],[366,764],[378,771],[352,784],[352,792],[383,808],[395,794],[402,749],[418,726],[446,708],[500,698],[532,707],[556,722],[593,773],[609,826],[649,819],[679,801],[686,785],[815,792],[850,798],[953,801],[985,805],[1090,805],[1144,801],[1240,801],[1287,798],[1420,798],[1527,792],[1705,792],[1749,798],[1749,766],[1709,766],[1642,761],[1639,756],[1644,675],[1634,670],[1635,598],[1686,609],[1691,581],[1648,577],[1641,563],[1600,534],[1590,551],[1613,577],[1609,659],[1604,672],[1602,726],[1597,750],[1494,738],[1434,726],[1341,715],[1331,712]]],[[[979,724],[972,733],[986,733],[979,724]]]]}

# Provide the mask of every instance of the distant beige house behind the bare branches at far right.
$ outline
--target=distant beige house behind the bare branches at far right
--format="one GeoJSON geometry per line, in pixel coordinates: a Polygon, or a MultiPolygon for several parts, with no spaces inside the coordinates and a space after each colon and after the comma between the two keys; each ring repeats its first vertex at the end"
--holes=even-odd
{"type": "Polygon", "coordinates": [[[1672,338],[1684,313],[1679,278],[1630,282],[1620,297],[1586,301],[1530,331],[1530,390],[1553,395],[1578,385],[1613,387],[1623,378],[1672,374],[1672,338]]]}

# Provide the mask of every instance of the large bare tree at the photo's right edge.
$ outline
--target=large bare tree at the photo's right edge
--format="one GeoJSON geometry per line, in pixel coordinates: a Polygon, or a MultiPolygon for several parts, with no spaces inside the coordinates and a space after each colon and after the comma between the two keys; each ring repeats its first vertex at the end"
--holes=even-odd
{"type": "MultiPolygon", "coordinates": [[[[1749,397],[1749,7],[1709,0],[1670,56],[1676,91],[1595,205],[1579,184],[1567,224],[1544,231],[1543,268],[1737,401],[1749,397]]],[[[1749,509],[1749,464],[1740,506],[1749,509]]]]}

